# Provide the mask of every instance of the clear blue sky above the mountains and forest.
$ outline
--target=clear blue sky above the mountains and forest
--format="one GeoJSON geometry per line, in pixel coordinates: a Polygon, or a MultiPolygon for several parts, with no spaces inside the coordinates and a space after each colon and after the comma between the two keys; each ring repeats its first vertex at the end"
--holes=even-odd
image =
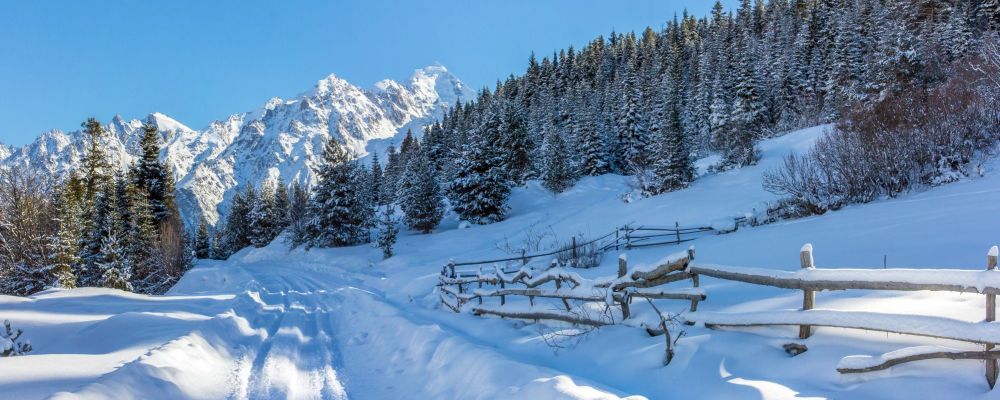
{"type": "MultiPolygon", "coordinates": [[[[88,116],[159,111],[200,129],[330,73],[363,86],[440,62],[473,87],[532,50],[659,28],[710,0],[8,1],[0,13],[0,141],[88,116]]],[[[726,0],[728,8],[736,0],[726,0]]]]}

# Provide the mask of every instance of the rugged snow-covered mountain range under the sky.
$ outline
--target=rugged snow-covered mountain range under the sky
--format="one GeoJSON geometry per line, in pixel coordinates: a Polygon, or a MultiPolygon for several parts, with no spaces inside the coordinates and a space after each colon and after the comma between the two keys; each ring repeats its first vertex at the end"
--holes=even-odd
{"type": "MultiPolygon", "coordinates": [[[[473,91],[441,65],[414,72],[406,83],[383,80],[360,88],[330,75],[290,100],[272,98],[262,107],[230,115],[194,130],[160,113],[150,114],[160,131],[162,160],[177,178],[177,201],[191,226],[204,215],[218,221],[228,200],[247,183],[299,180],[314,183],[323,143],[331,136],[362,157],[439,118],[473,91]],[[373,141],[377,141],[377,144],[373,141]]],[[[115,116],[106,126],[104,148],[114,165],[127,167],[139,154],[142,120],[115,116]]],[[[51,130],[23,147],[0,145],[0,165],[22,165],[56,176],[76,167],[84,154],[83,131],[51,130]]]]}

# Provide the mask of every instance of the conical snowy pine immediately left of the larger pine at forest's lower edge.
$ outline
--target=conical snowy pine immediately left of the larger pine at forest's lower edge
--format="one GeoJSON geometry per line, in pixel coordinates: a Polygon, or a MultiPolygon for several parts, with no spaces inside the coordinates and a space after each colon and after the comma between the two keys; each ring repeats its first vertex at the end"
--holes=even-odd
{"type": "Polygon", "coordinates": [[[410,229],[429,233],[444,217],[437,174],[426,150],[411,155],[400,185],[399,206],[410,229]]]}

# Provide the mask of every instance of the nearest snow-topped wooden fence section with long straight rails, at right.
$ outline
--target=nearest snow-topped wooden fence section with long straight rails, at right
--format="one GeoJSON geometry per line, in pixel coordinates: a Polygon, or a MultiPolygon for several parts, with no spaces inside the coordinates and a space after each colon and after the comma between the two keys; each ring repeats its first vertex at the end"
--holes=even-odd
{"type": "Polygon", "coordinates": [[[907,335],[950,339],[985,345],[983,351],[947,349],[939,346],[920,346],[901,349],[878,357],[851,356],[841,361],[837,371],[863,373],[888,369],[905,362],[929,359],[976,359],[986,362],[986,381],[992,389],[996,385],[1000,352],[1000,324],[996,321],[996,295],[1000,293],[1000,272],[996,271],[997,246],[987,254],[986,270],[942,269],[817,269],[813,265],[812,245],[806,244],[799,252],[801,269],[795,272],[763,268],[744,268],[720,265],[692,265],[687,273],[718,279],[746,282],[784,289],[802,290],[801,311],[754,313],[694,313],[685,319],[688,323],[702,323],[706,327],[798,325],[799,338],[812,335],[812,327],[861,329],[907,335]],[[973,323],[950,318],[921,315],[899,315],[874,312],[848,312],[814,310],[816,292],[822,290],[930,290],[986,295],[986,316],[983,322],[973,323]]]}

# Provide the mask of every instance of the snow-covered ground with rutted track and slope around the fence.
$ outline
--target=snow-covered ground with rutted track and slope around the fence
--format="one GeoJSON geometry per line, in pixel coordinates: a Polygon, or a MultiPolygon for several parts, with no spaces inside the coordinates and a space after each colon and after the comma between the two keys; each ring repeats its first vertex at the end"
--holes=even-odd
{"type": "MultiPolygon", "coordinates": [[[[532,183],[515,191],[507,221],[437,233],[407,233],[398,255],[368,246],[287,251],[279,243],[225,262],[202,261],[166,296],[107,289],[0,297],[0,319],[25,330],[35,350],[0,360],[5,398],[987,398],[977,361],[921,361],[841,376],[852,355],[909,346],[969,345],[884,333],[818,328],[809,351],[781,345],[795,327],[714,331],[685,327],[663,367],[662,337],[630,326],[582,336],[543,325],[455,314],[434,285],[449,258],[507,255],[526,236],[604,234],[626,223],[708,224],[760,210],[773,196],[761,173],[801,152],[822,127],[762,143],[759,166],[706,176],[687,190],[624,203],[627,179],[587,178],[553,196],[532,183]],[[548,340],[546,340],[548,339],[548,340]]],[[[1000,171],[983,178],[697,239],[698,262],[794,271],[806,242],[822,268],[882,266],[978,269],[1000,243],[1000,171]]],[[[682,250],[630,251],[630,265],[682,250]]],[[[616,254],[589,277],[614,274],[616,254]]],[[[678,282],[677,287],[689,286],[678,282]]],[[[707,312],[764,312],[801,306],[801,292],[702,279],[707,312]]],[[[487,300],[490,301],[490,300],[487,300]]],[[[666,312],[686,309],[663,301],[666,312]]],[[[652,320],[633,304],[636,324],[652,320]]],[[[980,321],[984,298],[931,292],[823,292],[817,308],[945,316],[980,321]]],[[[558,327],[557,327],[558,328],[558,327]]]]}

